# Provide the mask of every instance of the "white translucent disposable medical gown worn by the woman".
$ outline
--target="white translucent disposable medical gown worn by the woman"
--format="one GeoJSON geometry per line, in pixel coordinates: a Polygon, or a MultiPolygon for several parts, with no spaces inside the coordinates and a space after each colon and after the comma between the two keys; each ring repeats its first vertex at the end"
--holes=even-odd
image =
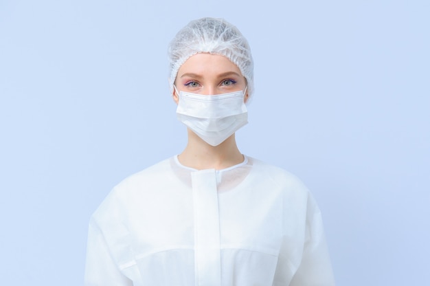
{"type": "Polygon", "coordinates": [[[293,175],[251,157],[177,156],[117,185],[89,223],[85,285],[335,285],[321,213],[293,175]]]}

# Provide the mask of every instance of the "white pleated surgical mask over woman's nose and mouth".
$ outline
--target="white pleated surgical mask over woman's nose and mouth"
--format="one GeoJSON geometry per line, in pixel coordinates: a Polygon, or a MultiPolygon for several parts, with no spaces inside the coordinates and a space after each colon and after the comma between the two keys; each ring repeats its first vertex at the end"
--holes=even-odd
{"type": "Polygon", "coordinates": [[[177,91],[177,118],[207,144],[217,146],[248,123],[245,92],[207,96],[177,91]]]}

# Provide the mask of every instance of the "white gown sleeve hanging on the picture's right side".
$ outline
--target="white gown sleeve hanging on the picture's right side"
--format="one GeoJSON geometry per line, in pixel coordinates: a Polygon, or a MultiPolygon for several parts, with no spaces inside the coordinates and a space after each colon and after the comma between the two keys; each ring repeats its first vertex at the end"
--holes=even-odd
{"type": "Polygon", "coordinates": [[[321,212],[313,197],[309,195],[302,260],[290,286],[333,285],[335,285],[335,278],[328,254],[321,212]]]}

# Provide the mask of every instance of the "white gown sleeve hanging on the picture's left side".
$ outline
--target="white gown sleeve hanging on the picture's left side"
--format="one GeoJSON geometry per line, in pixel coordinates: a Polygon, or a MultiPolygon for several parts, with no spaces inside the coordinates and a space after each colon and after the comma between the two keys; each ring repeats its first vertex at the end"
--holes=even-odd
{"type": "Polygon", "coordinates": [[[133,286],[113,261],[102,231],[91,219],[88,231],[85,286],[133,286]]]}

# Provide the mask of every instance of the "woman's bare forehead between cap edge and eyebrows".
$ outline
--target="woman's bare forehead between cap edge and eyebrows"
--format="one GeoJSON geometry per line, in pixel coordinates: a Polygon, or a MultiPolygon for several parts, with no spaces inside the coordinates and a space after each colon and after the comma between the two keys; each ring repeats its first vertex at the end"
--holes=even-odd
{"type": "Polygon", "coordinates": [[[183,63],[179,68],[178,76],[180,77],[185,73],[212,76],[216,74],[225,74],[226,72],[242,74],[238,66],[225,56],[220,54],[199,53],[190,56],[190,58],[183,63]]]}

